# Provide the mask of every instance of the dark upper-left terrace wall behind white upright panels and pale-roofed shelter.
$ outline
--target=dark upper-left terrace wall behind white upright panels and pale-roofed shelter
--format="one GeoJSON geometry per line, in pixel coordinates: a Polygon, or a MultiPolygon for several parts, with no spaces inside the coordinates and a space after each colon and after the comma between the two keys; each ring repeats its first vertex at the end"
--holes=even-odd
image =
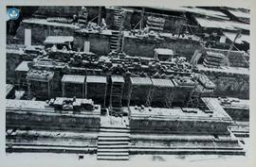
{"type": "Polygon", "coordinates": [[[110,51],[110,35],[99,33],[80,33],[75,32],[74,28],[68,26],[53,26],[39,24],[23,23],[17,30],[17,38],[21,44],[25,39],[25,28],[31,29],[31,44],[40,45],[46,40],[46,37],[51,36],[74,36],[73,47],[75,50],[81,48],[83,50],[84,42],[90,42],[90,51],[101,55],[107,55],[110,51]]]}

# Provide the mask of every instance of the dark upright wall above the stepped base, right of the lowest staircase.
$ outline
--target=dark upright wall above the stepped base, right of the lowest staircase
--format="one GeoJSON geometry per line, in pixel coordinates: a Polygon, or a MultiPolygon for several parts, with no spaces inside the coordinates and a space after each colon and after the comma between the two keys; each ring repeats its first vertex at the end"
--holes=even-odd
{"type": "Polygon", "coordinates": [[[130,119],[131,133],[172,133],[172,134],[229,134],[229,123],[210,120],[168,120],[154,118],[130,119]]]}

